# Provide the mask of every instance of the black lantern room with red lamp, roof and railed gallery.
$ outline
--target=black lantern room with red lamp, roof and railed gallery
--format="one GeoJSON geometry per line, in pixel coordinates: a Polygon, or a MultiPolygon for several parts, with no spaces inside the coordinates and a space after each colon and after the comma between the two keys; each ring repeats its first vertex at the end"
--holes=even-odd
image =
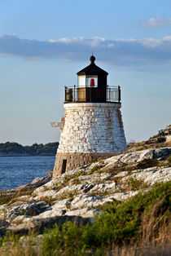
{"type": "Polygon", "coordinates": [[[108,73],[94,61],[94,55],[90,56],[90,64],[77,73],[77,86],[65,87],[65,103],[120,102],[120,86],[107,86],[108,73]]]}

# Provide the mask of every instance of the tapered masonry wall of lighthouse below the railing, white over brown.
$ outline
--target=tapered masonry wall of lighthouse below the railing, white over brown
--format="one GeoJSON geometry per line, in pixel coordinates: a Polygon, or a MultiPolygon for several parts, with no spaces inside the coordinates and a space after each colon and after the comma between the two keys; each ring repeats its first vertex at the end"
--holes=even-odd
{"type": "Polygon", "coordinates": [[[74,165],[81,166],[81,162],[87,163],[87,154],[122,152],[127,148],[121,104],[70,103],[64,104],[64,108],[64,127],[60,135],[54,172],[59,173],[61,170],[59,156],[64,159],[65,154],[65,159],[68,159],[67,156],[74,156],[74,159],[68,159],[67,171],[71,170],[71,166],[74,168],[74,165]],[[80,165],[76,156],[79,156],[80,165]]]}

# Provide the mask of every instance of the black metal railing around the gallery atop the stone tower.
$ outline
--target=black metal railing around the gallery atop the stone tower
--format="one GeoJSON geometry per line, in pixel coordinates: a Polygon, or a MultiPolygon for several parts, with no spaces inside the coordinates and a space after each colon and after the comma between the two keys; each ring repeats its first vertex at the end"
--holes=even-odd
{"type": "Polygon", "coordinates": [[[121,102],[121,87],[65,86],[65,103],[71,102],[121,102]]]}

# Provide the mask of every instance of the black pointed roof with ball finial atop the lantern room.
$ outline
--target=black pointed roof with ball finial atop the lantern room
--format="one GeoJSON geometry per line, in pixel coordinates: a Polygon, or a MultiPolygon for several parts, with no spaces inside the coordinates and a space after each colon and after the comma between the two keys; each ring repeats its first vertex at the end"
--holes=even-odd
{"type": "Polygon", "coordinates": [[[95,57],[94,55],[90,56],[90,65],[81,69],[81,71],[79,71],[77,73],[77,75],[106,75],[107,76],[107,72],[104,71],[102,68],[99,68],[98,66],[96,66],[96,64],[94,64],[95,61],[95,57]]]}

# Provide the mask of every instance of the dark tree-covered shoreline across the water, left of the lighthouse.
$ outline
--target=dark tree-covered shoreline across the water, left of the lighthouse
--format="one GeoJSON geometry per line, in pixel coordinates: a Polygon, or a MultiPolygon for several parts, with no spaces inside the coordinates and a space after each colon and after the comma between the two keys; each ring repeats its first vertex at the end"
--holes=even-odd
{"type": "Polygon", "coordinates": [[[22,146],[19,143],[7,142],[0,143],[0,156],[15,156],[15,155],[29,155],[29,156],[55,156],[56,150],[59,146],[58,142],[37,144],[32,146],[22,146]]]}

